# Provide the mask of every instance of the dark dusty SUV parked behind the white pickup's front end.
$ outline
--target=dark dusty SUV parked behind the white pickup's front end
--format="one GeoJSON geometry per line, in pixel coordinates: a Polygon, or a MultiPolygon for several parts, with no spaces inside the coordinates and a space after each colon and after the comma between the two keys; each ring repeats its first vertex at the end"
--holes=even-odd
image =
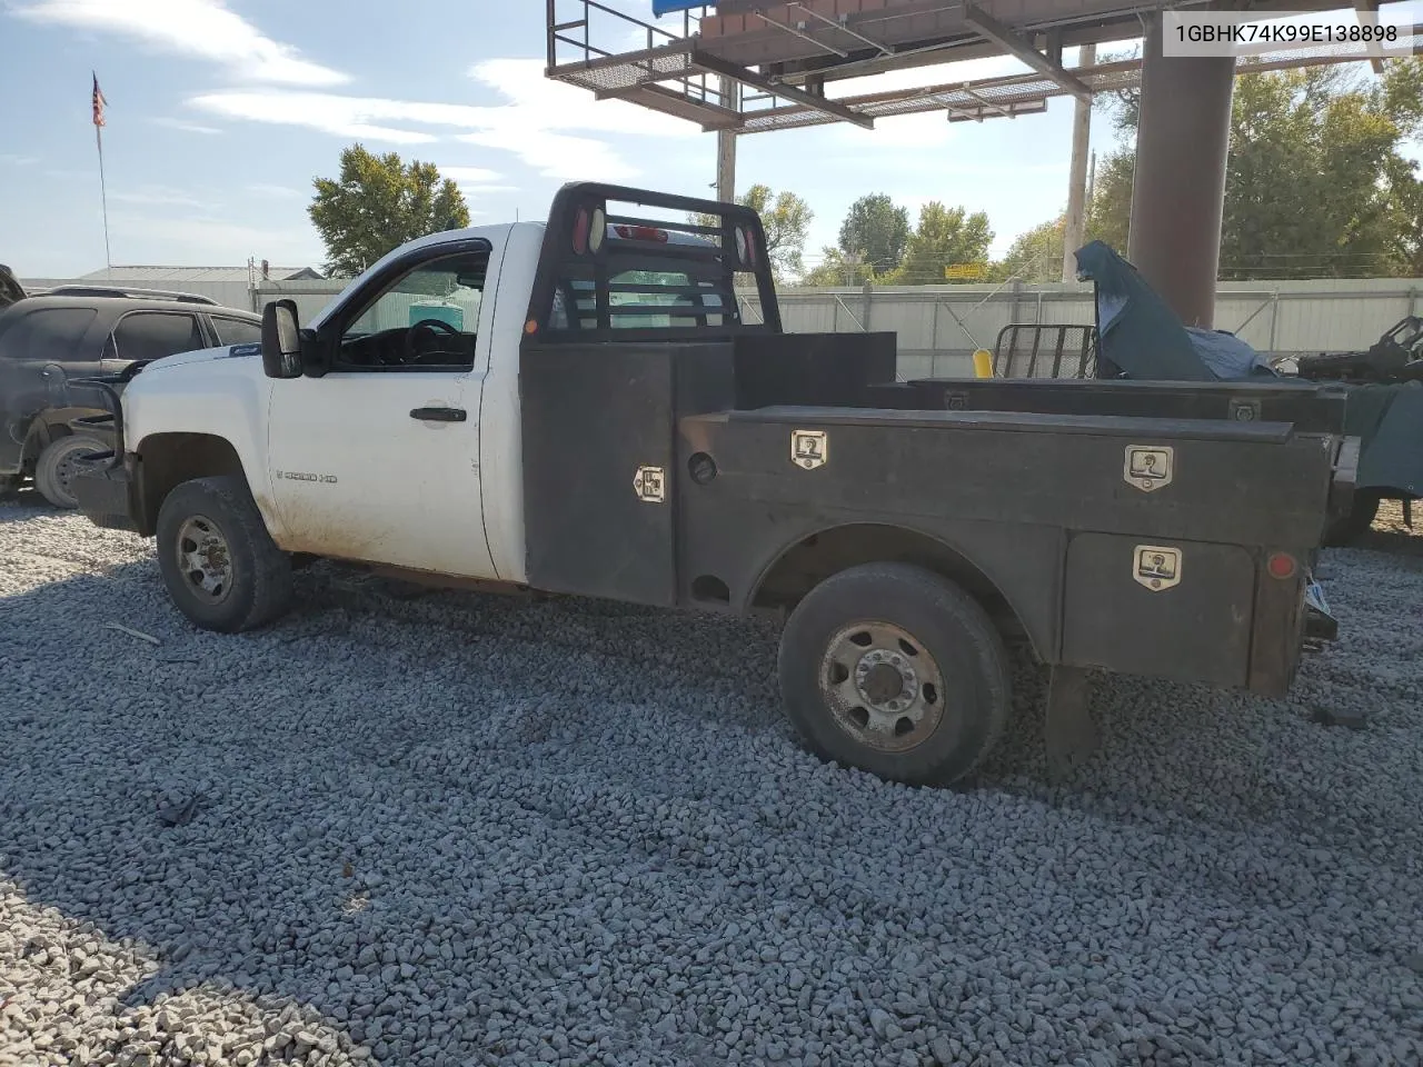
{"type": "Polygon", "coordinates": [[[104,447],[70,425],[102,410],[75,378],[260,339],[259,316],[206,296],[108,285],[28,296],[0,266],[0,494],[33,478],[50,504],[75,506],[75,460],[104,447]]]}

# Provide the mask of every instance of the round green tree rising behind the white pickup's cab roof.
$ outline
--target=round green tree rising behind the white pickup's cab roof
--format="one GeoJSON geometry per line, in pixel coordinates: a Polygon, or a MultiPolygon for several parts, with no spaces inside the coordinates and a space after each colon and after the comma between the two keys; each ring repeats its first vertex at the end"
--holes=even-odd
{"type": "Polygon", "coordinates": [[[326,243],[326,269],[354,276],[407,240],[470,225],[458,186],[434,164],[346,148],[337,181],[316,178],[307,213],[326,243]]]}

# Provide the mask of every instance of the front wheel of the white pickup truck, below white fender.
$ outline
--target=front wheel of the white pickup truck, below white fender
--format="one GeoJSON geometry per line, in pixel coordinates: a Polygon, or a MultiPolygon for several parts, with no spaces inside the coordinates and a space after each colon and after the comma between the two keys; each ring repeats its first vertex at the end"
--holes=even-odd
{"type": "Polygon", "coordinates": [[[242,478],[196,478],[158,509],[158,569],[178,610],[205,630],[266,626],[292,605],[292,562],[242,478]]]}

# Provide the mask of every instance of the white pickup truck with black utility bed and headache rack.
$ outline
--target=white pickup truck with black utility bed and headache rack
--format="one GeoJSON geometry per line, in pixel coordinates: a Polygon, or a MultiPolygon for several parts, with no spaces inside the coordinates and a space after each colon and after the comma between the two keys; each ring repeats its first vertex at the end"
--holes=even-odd
{"type": "Polygon", "coordinates": [[[276,620],[299,556],[780,610],[808,745],[906,782],[992,747],[1005,640],[1050,667],[1070,757],[1087,670],[1282,693],[1332,622],[1308,579],[1349,491],[1331,388],[980,383],[995,410],[963,410],[973,383],[895,381],[892,334],[783,333],[734,205],[573,184],[546,223],[396,249],[306,329],[276,302],[260,346],[92,384],[114,447],[75,497],[157,536],[199,626],[276,620]]]}

